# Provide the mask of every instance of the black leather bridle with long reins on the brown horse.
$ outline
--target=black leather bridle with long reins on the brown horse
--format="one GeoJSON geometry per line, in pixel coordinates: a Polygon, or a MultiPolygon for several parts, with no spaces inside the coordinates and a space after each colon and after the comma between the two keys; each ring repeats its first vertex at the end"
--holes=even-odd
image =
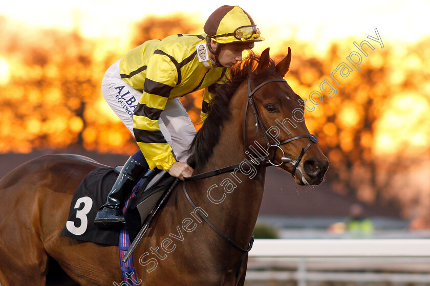
{"type": "MultiPolygon", "coordinates": [[[[279,146],[287,144],[287,143],[289,143],[291,141],[294,141],[294,140],[297,140],[297,139],[309,138],[308,145],[306,145],[305,148],[302,148],[302,152],[300,152],[300,155],[298,156],[296,162],[293,165],[293,170],[292,170],[291,174],[294,177],[295,170],[296,170],[299,162],[302,160],[303,155],[305,154],[305,152],[309,149],[309,147],[312,144],[314,144],[314,143],[317,142],[317,139],[316,139],[316,137],[314,135],[309,134],[309,135],[296,136],[296,137],[287,139],[287,140],[285,140],[283,142],[280,142],[280,143],[276,143],[272,139],[272,141],[274,142],[274,144],[270,143],[270,140],[269,140],[268,136],[266,135],[268,129],[266,128],[266,126],[264,124],[264,121],[263,121],[263,119],[261,117],[259,108],[256,106],[256,104],[254,102],[253,96],[254,96],[255,92],[257,90],[259,90],[262,86],[264,86],[264,85],[266,85],[266,84],[268,84],[270,82],[275,82],[275,81],[284,81],[284,82],[287,82],[286,80],[281,79],[281,78],[269,79],[269,80],[266,80],[263,83],[257,85],[254,90],[251,90],[251,78],[250,77],[248,78],[248,102],[247,102],[246,107],[245,107],[245,117],[244,117],[244,123],[243,123],[243,142],[244,142],[244,146],[245,146],[245,151],[247,153],[247,152],[249,152],[247,150],[247,147],[246,147],[247,146],[246,145],[246,117],[247,117],[247,113],[248,113],[248,106],[251,106],[252,112],[253,112],[254,117],[255,117],[256,133],[258,133],[259,126],[260,126],[260,128],[262,130],[264,130],[263,137],[264,137],[264,140],[266,141],[266,145],[267,145],[266,156],[259,157],[259,158],[254,158],[259,164],[262,163],[262,162],[267,161],[267,162],[269,162],[268,164],[271,164],[271,165],[274,165],[274,166],[280,166],[281,164],[285,163],[285,161],[289,161],[289,158],[285,157],[284,151],[279,146]],[[282,162],[280,164],[278,164],[278,165],[275,165],[274,163],[272,163],[273,160],[274,160],[274,157],[275,157],[276,150],[273,152],[272,160],[270,160],[270,158],[269,158],[269,149],[272,148],[272,147],[277,147],[277,148],[281,149],[281,151],[283,153],[283,157],[281,159],[282,162]]],[[[204,179],[204,178],[213,177],[215,175],[219,175],[219,174],[222,174],[222,173],[226,173],[226,172],[232,171],[232,170],[234,170],[236,168],[239,168],[240,164],[241,163],[235,164],[235,165],[231,165],[231,166],[228,166],[228,167],[224,167],[224,168],[221,168],[221,169],[215,169],[215,170],[212,170],[212,171],[209,171],[209,172],[205,172],[205,173],[201,173],[201,174],[198,174],[198,175],[193,175],[192,177],[185,178],[185,181],[195,181],[195,180],[200,180],[200,179],[204,179]]],[[[189,203],[191,204],[191,206],[196,210],[196,212],[199,213],[199,216],[203,219],[203,221],[205,221],[218,235],[220,235],[224,240],[226,240],[227,243],[229,243],[232,247],[234,247],[235,249],[237,249],[240,252],[242,252],[242,256],[241,256],[241,259],[240,259],[240,262],[239,262],[239,267],[238,267],[238,270],[236,271],[236,278],[238,278],[240,270],[241,270],[243,259],[245,258],[245,255],[252,248],[252,244],[254,242],[254,236],[251,237],[251,240],[249,241],[249,244],[248,244],[248,248],[247,249],[243,249],[242,247],[240,247],[239,245],[237,245],[236,243],[234,243],[234,241],[232,241],[230,238],[228,238],[227,236],[225,236],[220,230],[218,230],[209,221],[209,219],[204,214],[202,214],[200,212],[200,210],[198,210],[198,207],[191,200],[191,197],[189,196],[189,194],[188,194],[188,192],[187,192],[187,190],[185,188],[185,182],[182,183],[182,188],[183,188],[183,191],[185,193],[185,196],[186,196],[187,200],[189,201],[189,203]]]]}

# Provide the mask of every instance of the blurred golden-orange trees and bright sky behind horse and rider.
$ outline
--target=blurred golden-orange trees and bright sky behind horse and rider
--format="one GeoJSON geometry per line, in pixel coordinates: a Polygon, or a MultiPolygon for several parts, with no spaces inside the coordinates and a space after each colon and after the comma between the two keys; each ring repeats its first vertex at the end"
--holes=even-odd
{"type": "MultiPolygon", "coordinates": [[[[145,10],[136,4],[126,14],[123,7],[115,9],[121,6],[115,1],[77,2],[62,10],[47,3],[21,4],[26,11],[11,4],[0,12],[0,153],[135,152],[133,137],[101,95],[105,70],[145,40],[202,33],[205,18],[221,6],[152,4],[145,10]]],[[[307,112],[307,126],[330,160],[327,180],[334,191],[399,209],[429,226],[430,32],[415,22],[419,14],[401,18],[405,8],[389,3],[374,9],[370,1],[360,2],[356,11],[330,2],[294,4],[294,10],[257,2],[240,6],[267,38],[256,52],[271,47],[276,59],[291,47],[286,79],[302,98],[318,91],[320,82],[358,50],[354,41],[374,45],[362,57],[361,71],[342,78],[335,97],[325,96],[307,112]],[[367,38],[375,37],[375,28],[383,49],[367,38]]],[[[428,11],[428,4],[415,4],[408,9],[428,11]]],[[[199,91],[181,98],[197,129],[201,97],[199,91]]]]}

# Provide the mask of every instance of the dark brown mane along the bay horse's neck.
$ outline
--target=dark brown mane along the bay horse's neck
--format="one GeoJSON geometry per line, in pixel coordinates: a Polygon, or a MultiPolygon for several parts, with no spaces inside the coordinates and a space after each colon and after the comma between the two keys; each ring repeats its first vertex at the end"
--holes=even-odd
{"type": "Polygon", "coordinates": [[[187,161],[188,165],[193,168],[202,167],[212,155],[213,147],[219,142],[224,122],[231,118],[229,104],[239,85],[250,76],[254,84],[260,84],[267,77],[276,73],[273,60],[270,60],[268,69],[256,73],[255,69],[259,62],[260,55],[250,51],[240,64],[231,69],[230,79],[224,84],[216,86],[213,91],[214,96],[209,103],[207,118],[189,148],[191,156],[187,161]]]}

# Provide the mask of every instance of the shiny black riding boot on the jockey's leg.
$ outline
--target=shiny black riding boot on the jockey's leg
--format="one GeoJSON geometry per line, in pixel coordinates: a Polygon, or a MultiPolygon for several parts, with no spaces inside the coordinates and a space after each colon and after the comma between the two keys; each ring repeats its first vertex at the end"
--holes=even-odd
{"type": "Polygon", "coordinates": [[[95,225],[99,227],[122,227],[125,225],[122,214],[124,197],[130,195],[137,180],[147,170],[146,166],[142,166],[133,157],[128,158],[111,192],[107,195],[107,203],[101,206],[97,212],[94,220],[95,225]]]}

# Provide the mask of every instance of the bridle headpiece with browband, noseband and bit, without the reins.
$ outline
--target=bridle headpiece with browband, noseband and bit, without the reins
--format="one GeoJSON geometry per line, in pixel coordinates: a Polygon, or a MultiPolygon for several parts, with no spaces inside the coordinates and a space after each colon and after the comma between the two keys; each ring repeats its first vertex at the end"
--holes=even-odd
{"type": "MultiPolygon", "coordinates": [[[[272,141],[274,142],[273,144],[271,144],[270,143],[270,140],[269,140],[269,137],[267,136],[267,128],[266,128],[266,125],[264,124],[264,121],[263,121],[263,119],[262,119],[262,117],[261,117],[261,114],[260,114],[260,111],[259,111],[259,108],[257,107],[257,105],[255,104],[255,101],[254,101],[254,93],[257,91],[257,90],[259,90],[260,89],[260,87],[263,87],[264,85],[266,85],[266,84],[268,84],[269,82],[274,82],[274,81],[283,81],[283,82],[287,82],[285,79],[282,79],[282,78],[273,78],[273,79],[269,79],[269,80],[266,80],[266,81],[264,81],[263,83],[261,83],[261,84],[259,84],[259,85],[257,85],[256,87],[255,87],[255,89],[254,90],[251,90],[251,77],[249,77],[248,78],[248,104],[246,105],[246,107],[245,107],[245,117],[244,117],[244,120],[243,120],[243,142],[244,142],[244,145],[245,145],[245,150],[247,149],[247,144],[246,144],[246,117],[247,117],[247,114],[248,114],[248,106],[251,106],[251,109],[252,109],[252,113],[254,114],[254,118],[255,118],[255,128],[256,128],[256,130],[255,130],[255,133],[258,133],[258,131],[259,131],[259,126],[260,126],[260,128],[263,130],[263,137],[264,137],[264,140],[266,141],[266,146],[267,146],[267,149],[266,149],[266,156],[265,157],[263,157],[263,158],[261,158],[260,160],[261,161],[268,161],[270,164],[272,164],[273,166],[281,166],[282,164],[284,164],[284,161],[288,161],[288,158],[286,158],[285,157],[285,153],[284,153],[284,150],[281,148],[281,147],[279,147],[279,146],[281,146],[281,145],[284,145],[284,144],[287,144],[287,143],[289,143],[289,142],[291,142],[291,141],[294,141],[294,140],[297,140],[297,139],[301,139],[301,138],[309,138],[309,143],[308,143],[308,145],[306,145],[306,147],[305,148],[302,148],[302,152],[300,152],[300,155],[297,157],[297,160],[296,160],[296,162],[294,163],[294,165],[293,165],[293,169],[292,169],[292,171],[291,171],[291,174],[293,175],[293,177],[294,177],[294,174],[295,174],[295,170],[296,170],[296,168],[297,168],[297,166],[298,166],[298,164],[300,163],[300,161],[302,160],[302,157],[303,157],[303,155],[305,154],[305,152],[309,149],[309,147],[313,144],[313,143],[316,143],[316,142],[318,142],[318,140],[316,139],[316,137],[315,137],[315,135],[312,135],[312,134],[309,134],[309,135],[300,135],[300,136],[296,136],[296,137],[292,137],[292,138],[290,138],[290,139],[287,139],[287,140],[285,140],[285,141],[283,141],[283,142],[279,142],[279,143],[276,143],[275,142],[275,140],[273,140],[273,138],[272,138],[272,141]],[[272,160],[270,160],[270,158],[269,158],[269,149],[270,148],[272,148],[272,147],[276,147],[276,148],[279,148],[279,149],[281,149],[281,151],[282,151],[282,159],[281,159],[281,163],[279,163],[279,164],[274,164],[272,161],[274,160],[274,158],[275,158],[275,153],[276,153],[276,149],[275,149],[275,151],[273,152],[273,155],[272,155],[272,160]]],[[[249,151],[248,150],[246,150],[246,153],[248,153],[249,151]]],[[[259,160],[259,161],[260,161],[259,160]]]]}

